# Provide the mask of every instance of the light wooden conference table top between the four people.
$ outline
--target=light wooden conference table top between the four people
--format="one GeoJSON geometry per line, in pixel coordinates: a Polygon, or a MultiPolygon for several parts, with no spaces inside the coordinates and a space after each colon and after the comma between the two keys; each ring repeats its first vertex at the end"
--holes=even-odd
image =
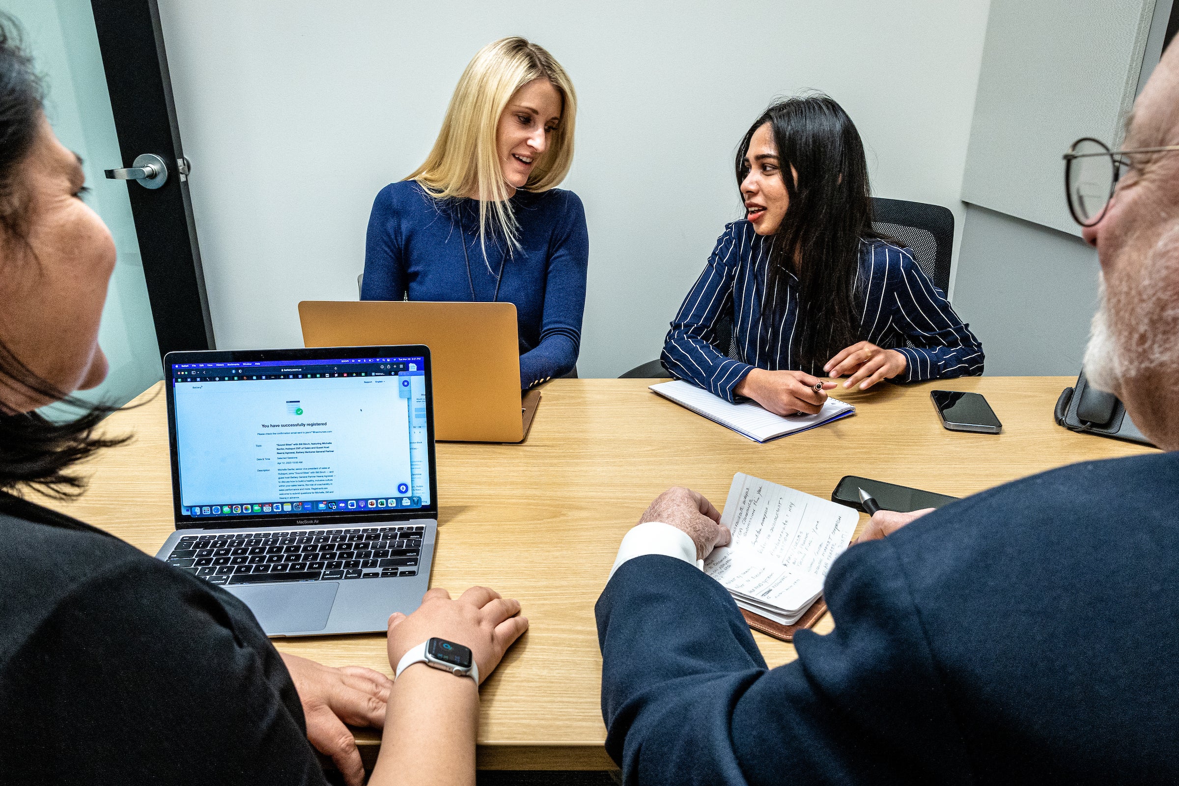
{"type": "MultiPolygon", "coordinates": [[[[593,607],[618,543],[670,486],[724,504],[744,471],[829,498],[844,475],[966,496],[1033,473],[1151,450],[1079,435],[1052,418],[1068,377],[975,377],[877,385],[837,397],[856,415],[758,444],[647,390],[650,379],[556,379],[527,441],[437,445],[439,537],[430,580],[452,593],[486,584],[516,597],[531,629],[482,687],[479,766],[490,770],[612,768],[602,747],[593,607]],[[947,431],[929,390],[987,396],[1001,435],[947,431]]],[[[134,441],[88,469],[90,490],[58,509],[154,554],[172,531],[163,383],[112,415],[106,428],[134,441]]],[[[862,517],[861,524],[867,521],[862,517]]],[[[685,621],[689,622],[689,621],[685,621]]],[[[830,615],[818,632],[834,628],[830,615]]],[[[792,645],[755,633],[770,666],[792,645]]],[[[275,646],[331,666],[391,674],[384,635],[276,639],[275,646]]],[[[380,738],[358,731],[371,764],[380,738]]]]}

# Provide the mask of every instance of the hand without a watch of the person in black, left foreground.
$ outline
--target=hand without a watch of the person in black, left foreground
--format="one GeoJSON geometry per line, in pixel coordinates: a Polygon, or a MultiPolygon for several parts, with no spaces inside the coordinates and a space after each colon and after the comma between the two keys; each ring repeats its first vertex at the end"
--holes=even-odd
{"type": "Polygon", "coordinates": [[[383,728],[393,680],[362,666],[332,668],[281,654],[303,705],[307,739],[316,751],[331,757],[348,786],[361,786],[364,767],[356,740],[344,724],[383,728]]]}

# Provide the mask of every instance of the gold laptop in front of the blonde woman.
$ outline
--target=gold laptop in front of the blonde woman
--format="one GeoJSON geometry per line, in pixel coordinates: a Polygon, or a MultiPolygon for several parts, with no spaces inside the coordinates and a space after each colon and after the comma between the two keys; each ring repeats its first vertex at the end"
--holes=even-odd
{"type": "Polygon", "coordinates": [[[303,300],[304,346],[426,344],[434,364],[434,438],[520,442],[540,391],[520,394],[513,303],[303,300]]]}

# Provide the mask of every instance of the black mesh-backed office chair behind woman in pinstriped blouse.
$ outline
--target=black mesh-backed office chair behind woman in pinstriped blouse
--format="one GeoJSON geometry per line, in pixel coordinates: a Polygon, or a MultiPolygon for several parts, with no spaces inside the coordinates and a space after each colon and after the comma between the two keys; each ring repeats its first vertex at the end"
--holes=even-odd
{"type": "MultiPolygon", "coordinates": [[[[950,285],[950,255],[954,251],[954,213],[941,205],[929,205],[923,202],[905,202],[904,199],[882,199],[872,197],[872,227],[909,249],[913,260],[944,293],[950,285]]],[[[717,335],[722,344],[727,344],[729,357],[740,359],[737,343],[732,335],[732,321],[717,325],[717,335]],[[727,339],[725,338],[727,336],[727,339]]],[[[659,361],[650,361],[637,365],[619,379],[652,378],[674,376],[659,361]]]]}

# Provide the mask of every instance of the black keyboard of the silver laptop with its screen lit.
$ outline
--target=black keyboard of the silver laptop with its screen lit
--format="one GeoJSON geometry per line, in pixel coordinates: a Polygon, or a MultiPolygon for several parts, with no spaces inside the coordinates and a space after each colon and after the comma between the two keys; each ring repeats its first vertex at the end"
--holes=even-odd
{"type": "Polygon", "coordinates": [[[185,535],[167,563],[211,584],[416,576],[424,527],[185,535]]]}

